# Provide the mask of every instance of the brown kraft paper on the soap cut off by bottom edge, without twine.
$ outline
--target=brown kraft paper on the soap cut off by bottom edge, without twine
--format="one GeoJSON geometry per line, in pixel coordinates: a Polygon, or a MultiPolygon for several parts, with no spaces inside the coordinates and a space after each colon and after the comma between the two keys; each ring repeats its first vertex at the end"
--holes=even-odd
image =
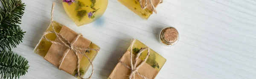
{"type": "MultiPolygon", "coordinates": [[[[124,62],[126,65],[130,66],[131,61],[130,61],[130,51],[126,51],[125,54],[122,56],[120,61],[124,62]]],[[[133,60],[135,59],[135,55],[132,54],[133,60]]],[[[138,64],[142,62],[141,59],[138,59],[138,64]]],[[[144,63],[144,65],[139,68],[138,72],[142,74],[143,76],[146,76],[148,79],[154,79],[157,76],[158,71],[152,68],[150,65],[147,63],[144,63]]],[[[124,65],[122,65],[120,62],[117,63],[116,67],[110,74],[109,78],[111,79],[129,79],[129,75],[131,74],[131,70],[124,65]]],[[[137,74],[135,75],[135,79],[142,79],[140,76],[137,74]]]]}

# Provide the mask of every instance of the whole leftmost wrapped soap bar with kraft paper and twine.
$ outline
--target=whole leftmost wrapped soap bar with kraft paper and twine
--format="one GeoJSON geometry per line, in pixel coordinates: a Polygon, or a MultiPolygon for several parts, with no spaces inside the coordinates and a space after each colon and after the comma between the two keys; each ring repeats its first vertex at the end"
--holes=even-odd
{"type": "MultiPolygon", "coordinates": [[[[83,79],[82,76],[90,65],[93,68],[92,61],[99,49],[99,46],[82,37],[81,34],[77,34],[70,28],[51,20],[51,24],[35,47],[34,52],[58,67],[59,70],[83,79]]],[[[90,77],[92,74],[93,72],[90,77]]]]}

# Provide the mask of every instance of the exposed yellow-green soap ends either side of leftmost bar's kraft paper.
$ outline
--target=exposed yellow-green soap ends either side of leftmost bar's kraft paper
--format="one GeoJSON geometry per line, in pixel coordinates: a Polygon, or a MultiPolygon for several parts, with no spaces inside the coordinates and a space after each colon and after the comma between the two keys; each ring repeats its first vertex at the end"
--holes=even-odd
{"type": "MultiPolygon", "coordinates": [[[[63,29],[63,25],[61,25],[60,23],[57,23],[55,21],[53,21],[53,27],[55,28],[56,32],[60,32],[61,29],[63,29]]],[[[67,28],[67,27],[65,27],[67,28]]],[[[69,28],[67,28],[69,29],[69,28]]],[[[47,28],[47,31],[52,31],[52,24],[49,25],[49,27],[47,28]]],[[[47,34],[46,38],[49,40],[54,41],[56,39],[56,35],[55,34],[47,34]]],[[[43,37],[41,38],[41,40],[39,41],[38,45],[35,47],[34,52],[42,57],[46,57],[47,53],[49,51],[50,48],[52,46],[52,43],[45,40],[43,37]]],[[[89,48],[93,48],[93,49],[99,49],[99,46],[95,45],[94,43],[90,42],[89,43],[89,48]]],[[[95,58],[95,56],[98,54],[97,51],[85,51],[86,55],[91,59],[91,61],[93,61],[93,59],[95,58]]],[[[76,62],[76,61],[75,61],[76,62]]],[[[81,76],[84,76],[84,73],[88,70],[88,68],[90,67],[90,62],[89,60],[83,56],[81,61],[80,61],[80,74],[81,76]]],[[[77,75],[77,69],[75,71],[73,71],[73,73],[70,73],[73,76],[77,75]]],[[[77,77],[79,79],[79,77],[77,77]]]]}

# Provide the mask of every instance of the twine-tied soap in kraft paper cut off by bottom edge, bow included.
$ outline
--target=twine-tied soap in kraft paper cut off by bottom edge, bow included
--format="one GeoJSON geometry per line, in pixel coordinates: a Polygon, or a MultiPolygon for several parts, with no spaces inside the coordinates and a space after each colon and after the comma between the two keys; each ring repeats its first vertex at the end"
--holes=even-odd
{"type": "Polygon", "coordinates": [[[133,40],[108,79],[154,79],[165,62],[163,56],[133,40]]]}

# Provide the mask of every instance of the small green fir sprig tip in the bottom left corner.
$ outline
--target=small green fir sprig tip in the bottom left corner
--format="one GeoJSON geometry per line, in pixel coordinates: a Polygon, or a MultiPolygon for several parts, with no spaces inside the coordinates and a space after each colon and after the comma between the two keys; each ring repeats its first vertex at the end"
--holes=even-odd
{"type": "Polygon", "coordinates": [[[0,52],[0,79],[17,79],[28,72],[28,61],[12,51],[0,52]]]}

